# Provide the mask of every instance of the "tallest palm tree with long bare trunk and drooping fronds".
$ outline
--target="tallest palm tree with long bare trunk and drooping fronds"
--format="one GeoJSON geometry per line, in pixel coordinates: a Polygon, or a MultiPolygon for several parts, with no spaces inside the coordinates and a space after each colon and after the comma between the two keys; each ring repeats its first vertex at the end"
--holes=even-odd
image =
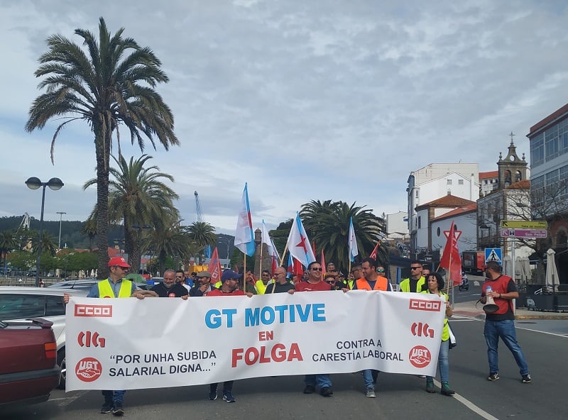
{"type": "Polygon", "coordinates": [[[144,148],[148,138],[155,149],[155,138],[166,150],[178,145],[173,131],[173,114],[158,92],[156,84],[168,82],[161,62],[150,48],[140,47],[133,38],[123,38],[124,28],[114,35],[99,19],[99,39],[90,31],[76,29],[84,49],[62,35],[47,39],[48,51],[40,56],[35,77],[44,77],[39,89],[46,88],[30,107],[26,130],[43,128],[52,118],[65,118],[55,130],[51,142],[51,161],[55,139],[71,121],[83,120],[94,135],[97,160],[97,237],[99,278],[107,277],[109,157],[112,135],[119,125],[130,131],[133,144],[144,148]]]}

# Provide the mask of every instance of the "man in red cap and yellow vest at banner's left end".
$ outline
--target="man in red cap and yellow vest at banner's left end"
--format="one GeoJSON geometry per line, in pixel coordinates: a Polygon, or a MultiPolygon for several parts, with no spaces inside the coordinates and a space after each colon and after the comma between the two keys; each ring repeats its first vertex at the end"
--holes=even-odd
{"type": "MultiPolygon", "coordinates": [[[[158,294],[150,290],[137,290],[136,284],[124,278],[129,271],[130,265],[122,257],[113,257],[109,260],[109,278],[101,280],[95,284],[90,290],[87,297],[158,297],[158,294]]],[[[63,294],[63,302],[69,303],[70,295],[63,294]]],[[[115,416],[124,415],[122,403],[124,401],[124,389],[105,390],[102,392],[104,404],[101,407],[101,413],[106,414],[112,411],[115,416]]]]}

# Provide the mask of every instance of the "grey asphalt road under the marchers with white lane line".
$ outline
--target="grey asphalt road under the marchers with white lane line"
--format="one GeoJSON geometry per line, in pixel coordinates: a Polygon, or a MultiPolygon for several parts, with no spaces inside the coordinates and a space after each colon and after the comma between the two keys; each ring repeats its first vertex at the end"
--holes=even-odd
{"type": "MultiPolygon", "coordinates": [[[[469,292],[472,292],[470,287],[469,292]]],[[[468,294],[461,292],[464,297],[468,294]]],[[[471,294],[471,293],[470,293],[471,294]]],[[[475,299],[479,292],[474,292],[475,299]]],[[[518,321],[518,340],[523,347],[533,383],[522,384],[512,355],[501,346],[500,376],[488,382],[484,322],[456,316],[452,328],[458,346],[450,350],[450,384],[454,397],[427,394],[425,380],[413,375],[381,373],[376,399],[364,396],[358,373],[332,375],[333,397],[302,394],[300,376],[239,380],[234,385],[234,404],[221,399],[207,401],[207,386],[139,389],[126,393],[126,418],[156,420],[195,419],[566,419],[568,368],[565,349],[568,321],[518,321]]],[[[102,419],[98,391],[54,391],[48,402],[0,409],[2,420],[102,419]]],[[[107,418],[111,415],[107,414],[107,418]]]]}

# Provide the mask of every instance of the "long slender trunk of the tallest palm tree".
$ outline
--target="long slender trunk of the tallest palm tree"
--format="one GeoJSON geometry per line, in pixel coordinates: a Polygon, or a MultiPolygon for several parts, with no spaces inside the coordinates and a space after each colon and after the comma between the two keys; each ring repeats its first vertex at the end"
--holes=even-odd
{"type": "Polygon", "coordinates": [[[103,136],[99,127],[94,127],[97,154],[97,244],[99,245],[99,270],[97,278],[109,277],[109,135],[103,136]],[[97,133],[99,131],[99,133],[97,133]],[[105,138],[104,138],[105,137],[105,138]]]}

